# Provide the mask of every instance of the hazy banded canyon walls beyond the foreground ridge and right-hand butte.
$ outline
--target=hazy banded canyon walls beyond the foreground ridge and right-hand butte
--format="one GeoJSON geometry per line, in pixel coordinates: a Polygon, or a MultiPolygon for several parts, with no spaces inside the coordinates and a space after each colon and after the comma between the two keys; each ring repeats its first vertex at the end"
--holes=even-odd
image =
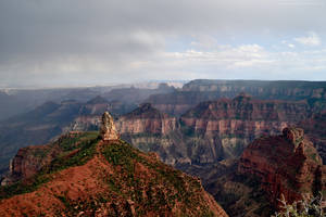
{"type": "Polygon", "coordinates": [[[318,138],[325,162],[325,140],[316,137],[323,130],[302,124],[325,119],[325,87],[323,81],[193,80],[180,89],[160,85],[57,94],[54,101],[0,123],[1,170],[8,170],[22,146],[71,130],[97,130],[104,111],[113,114],[124,139],[171,165],[236,158],[256,137],[292,125],[303,125],[318,138]]]}

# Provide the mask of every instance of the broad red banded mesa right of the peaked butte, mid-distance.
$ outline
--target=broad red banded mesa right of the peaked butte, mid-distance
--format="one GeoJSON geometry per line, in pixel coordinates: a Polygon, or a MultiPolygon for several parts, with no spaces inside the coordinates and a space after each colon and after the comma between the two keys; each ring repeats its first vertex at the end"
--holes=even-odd
{"type": "MultiPolygon", "coordinates": [[[[260,101],[248,95],[200,103],[180,117],[190,137],[209,141],[216,158],[236,157],[263,133],[278,133],[310,116],[305,102],[260,101]]],[[[206,150],[210,151],[210,150],[206,150]]],[[[204,153],[209,154],[209,153],[204,153]]]]}

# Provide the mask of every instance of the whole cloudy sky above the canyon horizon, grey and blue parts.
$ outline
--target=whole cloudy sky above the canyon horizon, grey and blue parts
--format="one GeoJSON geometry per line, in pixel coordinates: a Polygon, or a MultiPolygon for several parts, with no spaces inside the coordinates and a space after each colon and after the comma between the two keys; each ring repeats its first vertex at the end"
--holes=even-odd
{"type": "Polygon", "coordinates": [[[0,0],[0,88],[326,80],[326,0],[0,0]]]}

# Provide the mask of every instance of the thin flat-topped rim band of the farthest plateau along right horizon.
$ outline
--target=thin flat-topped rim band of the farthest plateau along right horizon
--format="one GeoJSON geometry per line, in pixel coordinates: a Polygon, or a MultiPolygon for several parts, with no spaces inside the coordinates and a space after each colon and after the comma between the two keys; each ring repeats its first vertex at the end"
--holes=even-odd
{"type": "Polygon", "coordinates": [[[184,91],[218,92],[233,98],[239,92],[248,92],[262,99],[296,100],[304,98],[326,99],[325,81],[298,80],[205,80],[198,79],[186,84],[184,91]]]}

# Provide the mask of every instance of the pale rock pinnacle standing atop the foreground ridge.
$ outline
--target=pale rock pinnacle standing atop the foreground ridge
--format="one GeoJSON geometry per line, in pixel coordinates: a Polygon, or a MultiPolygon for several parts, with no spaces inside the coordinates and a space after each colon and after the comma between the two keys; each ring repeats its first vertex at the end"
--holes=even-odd
{"type": "Polygon", "coordinates": [[[103,141],[118,140],[120,138],[115,129],[113,117],[109,114],[109,112],[104,112],[102,115],[100,136],[103,141]]]}

